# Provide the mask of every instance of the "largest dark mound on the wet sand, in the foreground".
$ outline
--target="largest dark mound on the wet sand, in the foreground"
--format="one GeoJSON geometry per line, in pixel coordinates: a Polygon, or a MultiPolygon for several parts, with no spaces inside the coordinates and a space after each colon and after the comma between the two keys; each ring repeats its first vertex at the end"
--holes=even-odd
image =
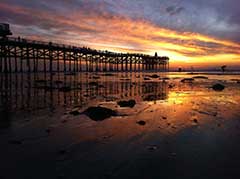
{"type": "Polygon", "coordinates": [[[83,112],[83,114],[87,115],[90,119],[94,121],[102,121],[112,116],[117,116],[116,111],[109,108],[100,107],[100,106],[89,107],[83,112]]]}

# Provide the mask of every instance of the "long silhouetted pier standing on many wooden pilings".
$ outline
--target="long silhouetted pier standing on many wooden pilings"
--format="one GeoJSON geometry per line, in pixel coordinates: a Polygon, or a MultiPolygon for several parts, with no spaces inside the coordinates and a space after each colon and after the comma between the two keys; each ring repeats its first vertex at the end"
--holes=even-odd
{"type": "Polygon", "coordinates": [[[3,37],[0,73],[164,71],[169,58],[137,53],[113,53],[52,42],[3,37]]]}

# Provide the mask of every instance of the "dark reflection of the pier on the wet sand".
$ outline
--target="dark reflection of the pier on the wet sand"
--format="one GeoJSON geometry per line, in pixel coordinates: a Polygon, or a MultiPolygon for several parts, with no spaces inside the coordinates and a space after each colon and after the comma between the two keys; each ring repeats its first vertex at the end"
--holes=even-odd
{"type": "Polygon", "coordinates": [[[8,110],[37,110],[57,106],[86,106],[90,101],[113,101],[138,98],[153,101],[167,98],[163,82],[140,82],[135,74],[39,75],[9,74],[1,76],[2,107],[8,110]],[[51,79],[51,80],[50,80],[51,79]]]}

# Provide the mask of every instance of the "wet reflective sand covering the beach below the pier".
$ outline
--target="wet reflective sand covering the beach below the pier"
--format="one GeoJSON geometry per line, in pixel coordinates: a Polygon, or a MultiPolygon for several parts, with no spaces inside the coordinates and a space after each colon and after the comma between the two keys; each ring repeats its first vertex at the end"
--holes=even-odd
{"type": "Polygon", "coordinates": [[[0,178],[237,178],[240,75],[153,74],[1,76],[0,178]]]}

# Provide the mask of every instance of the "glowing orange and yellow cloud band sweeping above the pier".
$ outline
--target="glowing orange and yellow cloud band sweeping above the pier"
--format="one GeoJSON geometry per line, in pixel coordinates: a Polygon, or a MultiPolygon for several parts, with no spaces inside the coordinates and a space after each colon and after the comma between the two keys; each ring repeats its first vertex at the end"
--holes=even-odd
{"type": "MultiPolygon", "coordinates": [[[[238,64],[240,44],[203,34],[178,32],[156,26],[144,20],[133,20],[109,13],[72,12],[68,16],[36,11],[0,3],[0,8],[21,16],[31,16],[29,26],[44,29],[48,34],[32,37],[90,46],[118,52],[141,52],[169,56],[171,64],[238,64]],[[47,39],[46,39],[47,38],[47,39]]],[[[29,18],[29,17],[28,17],[29,18]]],[[[17,32],[27,35],[28,32],[17,32]]]]}

